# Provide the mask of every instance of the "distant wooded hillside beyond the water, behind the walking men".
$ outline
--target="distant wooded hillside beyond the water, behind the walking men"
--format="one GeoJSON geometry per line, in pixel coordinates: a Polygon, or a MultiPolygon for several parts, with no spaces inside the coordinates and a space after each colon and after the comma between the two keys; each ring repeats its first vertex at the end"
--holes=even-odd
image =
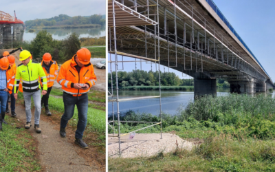
{"type": "Polygon", "coordinates": [[[69,17],[66,14],[59,14],[56,17],[50,19],[35,19],[30,21],[25,21],[25,25],[28,28],[32,27],[44,27],[44,26],[53,26],[53,25],[104,25],[106,15],[94,14],[89,17],[69,17]]]}

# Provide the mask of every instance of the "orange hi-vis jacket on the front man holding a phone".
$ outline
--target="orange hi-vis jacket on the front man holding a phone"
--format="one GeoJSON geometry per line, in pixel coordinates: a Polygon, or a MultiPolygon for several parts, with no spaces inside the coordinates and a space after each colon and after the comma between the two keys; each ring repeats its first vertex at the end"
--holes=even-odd
{"type": "Polygon", "coordinates": [[[83,65],[80,72],[76,70],[75,56],[69,61],[66,61],[61,65],[59,74],[57,77],[57,82],[62,85],[62,89],[67,94],[72,94],[73,96],[81,96],[89,92],[91,86],[96,84],[96,75],[94,74],[94,67],[89,63],[88,65],[83,65]],[[80,83],[80,86],[87,84],[89,89],[75,89],[74,84],[80,83]]]}

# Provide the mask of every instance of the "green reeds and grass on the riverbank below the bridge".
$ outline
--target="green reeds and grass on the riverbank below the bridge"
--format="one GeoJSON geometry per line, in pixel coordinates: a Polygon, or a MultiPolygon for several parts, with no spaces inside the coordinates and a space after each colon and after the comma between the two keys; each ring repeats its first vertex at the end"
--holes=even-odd
{"type": "MultiPolygon", "coordinates": [[[[109,158],[109,171],[275,171],[275,100],[271,96],[205,96],[186,109],[179,108],[176,116],[163,116],[163,131],[195,142],[192,151],[178,148],[167,154],[159,150],[153,158],[109,158]]],[[[122,120],[160,119],[128,111],[122,120]]],[[[120,128],[126,133],[144,126],[120,128]]],[[[159,125],[138,132],[158,133],[159,125]]]]}

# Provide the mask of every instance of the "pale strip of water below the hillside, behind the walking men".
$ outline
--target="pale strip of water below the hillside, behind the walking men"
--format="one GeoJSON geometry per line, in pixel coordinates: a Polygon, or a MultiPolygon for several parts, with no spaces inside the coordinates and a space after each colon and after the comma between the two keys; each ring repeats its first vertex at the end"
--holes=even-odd
{"type": "MultiPolygon", "coordinates": [[[[36,34],[41,31],[39,29],[34,29],[35,32],[28,32],[26,29],[23,35],[23,41],[32,41],[35,38],[36,34]]],[[[105,27],[101,28],[72,28],[72,29],[46,29],[47,32],[52,34],[52,38],[56,40],[65,39],[70,33],[75,32],[79,34],[80,38],[91,37],[98,38],[101,36],[106,36],[105,27]]]]}

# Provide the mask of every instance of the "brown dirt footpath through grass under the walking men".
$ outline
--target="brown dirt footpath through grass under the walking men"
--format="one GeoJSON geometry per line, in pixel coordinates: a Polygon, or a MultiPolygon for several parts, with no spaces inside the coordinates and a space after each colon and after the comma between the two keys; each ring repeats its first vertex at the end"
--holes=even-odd
{"type": "MultiPolygon", "coordinates": [[[[25,124],[25,108],[17,105],[15,112],[17,113],[17,118],[25,124]]],[[[43,113],[41,113],[42,115],[43,113]]],[[[40,127],[42,132],[36,133],[34,129],[34,113],[32,112],[32,127],[28,131],[39,142],[39,158],[45,171],[100,171],[95,163],[88,164],[84,158],[78,155],[78,151],[81,148],[69,142],[69,140],[74,139],[74,136],[61,138],[59,130],[56,129],[58,127],[53,125],[52,122],[40,120],[40,127]]]]}

